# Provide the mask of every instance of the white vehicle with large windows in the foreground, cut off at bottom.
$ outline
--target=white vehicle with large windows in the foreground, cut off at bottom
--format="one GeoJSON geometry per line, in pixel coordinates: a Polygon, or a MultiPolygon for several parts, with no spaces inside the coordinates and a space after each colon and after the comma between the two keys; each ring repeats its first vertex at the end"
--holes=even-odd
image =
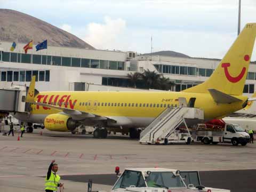
{"type": "MultiPolygon", "coordinates": [[[[118,168],[119,171],[119,168],[118,168]]],[[[117,172],[116,172],[117,173],[117,172]]],[[[125,169],[111,192],[230,192],[227,189],[204,187],[198,171],[179,171],[163,168],[125,169]]]]}

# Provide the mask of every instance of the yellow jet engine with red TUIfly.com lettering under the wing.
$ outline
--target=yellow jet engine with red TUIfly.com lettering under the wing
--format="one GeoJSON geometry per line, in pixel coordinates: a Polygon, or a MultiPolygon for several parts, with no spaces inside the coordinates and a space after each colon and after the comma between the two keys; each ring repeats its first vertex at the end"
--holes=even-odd
{"type": "Polygon", "coordinates": [[[78,122],[68,115],[51,114],[44,119],[44,126],[50,131],[73,131],[78,126],[78,122]]]}

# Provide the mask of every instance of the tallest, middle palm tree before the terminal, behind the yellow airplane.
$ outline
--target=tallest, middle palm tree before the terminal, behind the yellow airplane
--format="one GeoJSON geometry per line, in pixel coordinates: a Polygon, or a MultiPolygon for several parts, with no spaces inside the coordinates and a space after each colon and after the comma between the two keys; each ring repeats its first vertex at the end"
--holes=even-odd
{"type": "Polygon", "coordinates": [[[145,70],[142,74],[142,79],[147,85],[148,89],[156,89],[159,79],[163,77],[163,74],[157,74],[155,71],[145,70]]]}

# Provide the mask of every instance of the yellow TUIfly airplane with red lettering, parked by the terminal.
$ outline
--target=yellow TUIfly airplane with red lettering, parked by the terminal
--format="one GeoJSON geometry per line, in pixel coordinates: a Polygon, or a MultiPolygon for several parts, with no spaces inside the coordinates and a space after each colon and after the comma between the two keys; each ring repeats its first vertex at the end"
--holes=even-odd
{"type": "Polygon", "coordinates": [[[190,107],[204,110],[205,120],[226,116],[247,105],[244,83],[256,36],[256,23],[248,23],[207,81],[181,92],[49,91],[35,94],[35,77],[26,102],[30,115],[16,114],[21,121],[44,123],[51,131],[73,131],[78,125],[93,125],[94,137],[107,137],[111,127],[138,137],[137,127],[146,127],[167,107],[177,107],[186,98],[190,107]],[[104,127],[103,129],[101,127],[104,127]]]}

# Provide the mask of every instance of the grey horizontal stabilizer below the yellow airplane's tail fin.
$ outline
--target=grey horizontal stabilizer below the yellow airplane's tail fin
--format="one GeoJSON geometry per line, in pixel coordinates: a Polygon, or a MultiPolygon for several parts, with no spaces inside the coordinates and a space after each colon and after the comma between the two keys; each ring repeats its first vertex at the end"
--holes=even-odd
{"type": "Polygon", "coordinates": [[[208,89],[208,91],[212,95],[213,100],[217,103],[233,103],[241,101],[240,99],[237,99],[229,94],[223,93],[215,89],[208,89]]]}

